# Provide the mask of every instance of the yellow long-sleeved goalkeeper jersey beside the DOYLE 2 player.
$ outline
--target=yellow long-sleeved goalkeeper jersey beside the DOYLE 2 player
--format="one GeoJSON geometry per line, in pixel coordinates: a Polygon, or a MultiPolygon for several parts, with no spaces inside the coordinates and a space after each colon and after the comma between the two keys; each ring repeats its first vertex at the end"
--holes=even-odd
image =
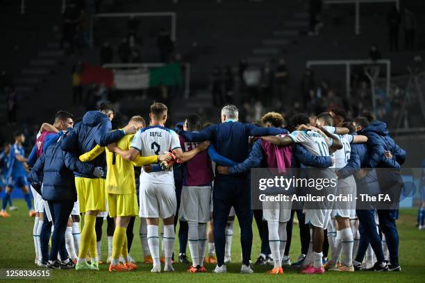
{"type": "MultiPolygon", "coordinates": [[[[128,151],[134,135],[125,135],[117,142],[117,146],[128,151]]],[[[80,155],[82,162],[88,162],[105,151],[104,147],[95,146],[88,153],[80,155]]],[[[112,153],[106,148],[106,192],[108,194],[133,194],[135,193],[134,166],[143,166],[158,162],[157,155],[143,157],[138,155],[133,162],[124,160],[117,153],[112,153]]]]}

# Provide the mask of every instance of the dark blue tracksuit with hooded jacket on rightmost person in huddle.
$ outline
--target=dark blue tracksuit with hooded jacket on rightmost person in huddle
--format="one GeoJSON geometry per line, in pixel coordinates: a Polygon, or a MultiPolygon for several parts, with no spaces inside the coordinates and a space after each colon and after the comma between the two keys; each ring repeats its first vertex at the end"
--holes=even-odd
{"type": "MultiPolygon", "coordinates": [[[[387,125],[381,121],[370,123],[369,126],[360,131],[360,134],[368,138],[369,168],[385,168],[376,171],[381,192],[399,198],[403,187],[399,168],[406,160],[406,151],[397,146],[394,139],[389,135],[387,125]],[[390,151],[391,160],[384,157],[384,151],[390,151]]],[[[399,266],[399,234],[395,223],[397,216],[397,207],[394,209],[378,209],[379,228],[385,234],[392,266],[399,266]]]]}

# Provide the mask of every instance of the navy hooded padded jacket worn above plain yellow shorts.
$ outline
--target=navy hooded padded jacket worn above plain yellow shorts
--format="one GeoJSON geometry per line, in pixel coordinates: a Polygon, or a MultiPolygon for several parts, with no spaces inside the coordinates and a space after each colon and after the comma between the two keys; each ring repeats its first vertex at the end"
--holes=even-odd
{"type": "MultiPolygon", "coordinates": [[[[107,146],[124,137],[124,130],[115,130],[111,132],[112,124],[108,116],[99,111],[88,111],[83,116],[83,121],[76,123],[74,128],[69,130],[60,141],[60,147],[63,151],[75,151],[77,155],[91,151],[94,146],[107,146]]],[[[105,153],[94,158],[90,162],[93,166],[106,166],[105,153]]],[[[95,178],[91,174],[81,174],[75,172],[76,176],[84,178],[95,178]]]]}

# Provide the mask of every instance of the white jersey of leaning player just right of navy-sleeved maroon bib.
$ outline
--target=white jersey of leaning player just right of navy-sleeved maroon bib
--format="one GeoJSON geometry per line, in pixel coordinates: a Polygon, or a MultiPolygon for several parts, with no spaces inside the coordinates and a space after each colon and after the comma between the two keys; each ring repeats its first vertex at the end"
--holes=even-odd
{"type": "Polygon", "coordinates": [[[295,130],[288,135],[295,143],[305,146],[310,153],[317,156],[329,156],[333,139],[313,130],[295,130]]]}

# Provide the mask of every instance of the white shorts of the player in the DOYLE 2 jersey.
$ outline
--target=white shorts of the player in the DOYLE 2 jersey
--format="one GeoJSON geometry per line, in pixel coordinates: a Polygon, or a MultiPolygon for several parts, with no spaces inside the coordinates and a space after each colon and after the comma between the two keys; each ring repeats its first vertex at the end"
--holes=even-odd
{"type": "Polygon", "coordinates": [[[176,214],[177,198],[174,185],[140,182],[139,216],[169,218],[176,214]]]}

